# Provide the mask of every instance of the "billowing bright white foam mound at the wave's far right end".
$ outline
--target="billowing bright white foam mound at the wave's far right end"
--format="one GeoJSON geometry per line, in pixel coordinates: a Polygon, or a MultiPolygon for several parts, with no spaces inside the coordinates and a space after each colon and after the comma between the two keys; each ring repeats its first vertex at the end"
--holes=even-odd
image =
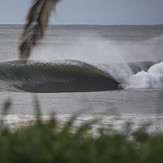
{"type": "Polygon", "coordinates": [[[163,62],[132,75],[123,85],[125,89],[163,89],[163,62]]]}

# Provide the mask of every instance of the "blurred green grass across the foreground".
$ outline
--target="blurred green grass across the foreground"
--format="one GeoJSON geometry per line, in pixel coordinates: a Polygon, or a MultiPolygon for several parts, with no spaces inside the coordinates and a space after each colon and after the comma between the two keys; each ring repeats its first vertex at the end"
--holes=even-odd
{"type": "MultiPolygon", "coordinates": [[[[3,114],[10,108],[6,101],[3,114]]],[[[148,126],[124,131],[100,128],[98,136],[91,132],[94,122],[74,127],[75,117],[63,126],[55,119],[41,120],[35,99],[37,120],[34,124],[11,131],[0,122],[0,163],[162,163],[163,134],[147,132],[148,126]]]]}

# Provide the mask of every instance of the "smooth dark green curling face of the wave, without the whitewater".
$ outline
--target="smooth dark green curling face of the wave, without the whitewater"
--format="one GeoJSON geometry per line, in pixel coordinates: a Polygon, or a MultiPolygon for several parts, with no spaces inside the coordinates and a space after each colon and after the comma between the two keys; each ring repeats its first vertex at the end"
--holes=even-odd
{"type": "Polygon", "coordinates": [[[111,75],[80,61],[0,63],[1,91],[89,92],[118,87],[111,75]]]}

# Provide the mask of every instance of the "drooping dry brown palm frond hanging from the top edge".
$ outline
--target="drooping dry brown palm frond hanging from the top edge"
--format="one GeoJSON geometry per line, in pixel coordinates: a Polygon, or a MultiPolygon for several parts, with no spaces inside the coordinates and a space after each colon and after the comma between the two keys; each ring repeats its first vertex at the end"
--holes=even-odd
{"type": "Polygon", "coordinates": [[[32,48],[44,35],[51,11],[60,0],[34,0],[27,16],[27,23],[19,47],[19,59],[26,62],[32,48]]]}

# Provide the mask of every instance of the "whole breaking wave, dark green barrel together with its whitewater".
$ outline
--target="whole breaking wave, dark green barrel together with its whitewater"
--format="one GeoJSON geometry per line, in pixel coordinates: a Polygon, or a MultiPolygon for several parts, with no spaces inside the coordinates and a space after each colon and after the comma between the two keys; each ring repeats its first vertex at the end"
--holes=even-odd
{"type": "Polygon", "coordinates": [[[0,91],[90,92],[162,89],[163,62],[91,65],[77,60],[0,63],[0,91]]]}

